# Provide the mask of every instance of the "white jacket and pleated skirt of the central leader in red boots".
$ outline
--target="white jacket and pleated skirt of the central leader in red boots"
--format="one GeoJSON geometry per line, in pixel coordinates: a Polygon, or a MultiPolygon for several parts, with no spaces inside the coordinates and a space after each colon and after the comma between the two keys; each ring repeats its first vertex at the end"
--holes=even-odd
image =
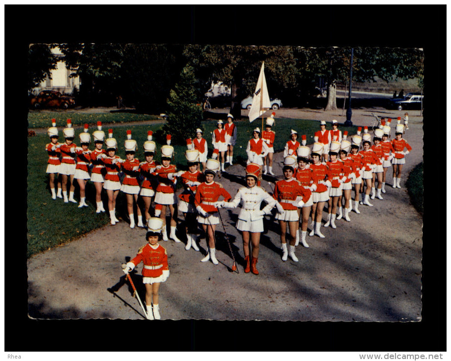
{"type": "Polygon", "coordinates": [[[259,214],[260,206],[265,201],[267,205],[261,211],[269,214],[276,205],[276,200],[262,187],[241,187],[231,202],[225,202],[224,207],[236,208],[242,202],[241,211],[236,222],[236,229],[247,232],[263,232],[264,215],[259,214]]]}

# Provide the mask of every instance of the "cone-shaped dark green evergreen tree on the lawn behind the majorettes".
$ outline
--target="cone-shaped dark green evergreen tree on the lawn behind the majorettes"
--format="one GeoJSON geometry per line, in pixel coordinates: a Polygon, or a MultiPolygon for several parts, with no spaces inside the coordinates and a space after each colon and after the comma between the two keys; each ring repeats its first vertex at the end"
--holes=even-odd
{"type": "Polygon", "coordinates": [[[194,69],[185,66],[167,100],[168,120],[163,131],[171,135],[172,143],[184,144],[186,138],[195,136],[197,128],[202,129],[202,108],[197,99],[194,69]]]}

